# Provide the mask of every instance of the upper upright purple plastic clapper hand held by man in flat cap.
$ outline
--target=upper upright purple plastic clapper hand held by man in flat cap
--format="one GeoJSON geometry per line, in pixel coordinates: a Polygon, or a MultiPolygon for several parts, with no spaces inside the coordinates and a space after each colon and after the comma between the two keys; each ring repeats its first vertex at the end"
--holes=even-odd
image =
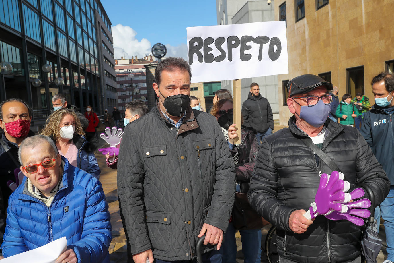
{"type": "Polygon", "coordinates": [[[341,204],[344,200],[345,193],[344,181],[339,179],[339,173],[334,171],[331,176],[323,173],[320,177],[320,184],[316,192],[315,201],[311,203],[309,211],[304,214],[308,219],[316,218],[317,215],[329,213],[331,210],[341,211],[341,204]],[[309,215],[310,216],[309,216],[309,215]]]}

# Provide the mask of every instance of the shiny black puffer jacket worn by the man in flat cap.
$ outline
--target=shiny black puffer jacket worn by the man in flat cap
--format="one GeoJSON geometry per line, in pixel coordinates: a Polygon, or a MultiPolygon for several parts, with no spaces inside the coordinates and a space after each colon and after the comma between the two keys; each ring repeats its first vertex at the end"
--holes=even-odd
{"type": "MultiPolygon", "coordinates": [[[[322,161],[316,165],[314,153],[299,138],[306,137],[294,125],[264,138],[256,158],[248,198],[251,206],[277,227],[278,252],[296,262],[348,262],[360,254],[361,227],[347,220],[327,220],[318,216],[307,231],[290,230],[290,214],[307,211],[319,186],[319,170],[332,170],[322,161]],[[319,167],[319,168],[318,168],[319,167]]],[[[388,194],[390,183],[360,132],[349,126],[325,123],[330,131],[323,151],[355,187],[370,188],[376,207],[388,194]]],[[[369,198],[368,194],[364,197],[369,198]]]]}

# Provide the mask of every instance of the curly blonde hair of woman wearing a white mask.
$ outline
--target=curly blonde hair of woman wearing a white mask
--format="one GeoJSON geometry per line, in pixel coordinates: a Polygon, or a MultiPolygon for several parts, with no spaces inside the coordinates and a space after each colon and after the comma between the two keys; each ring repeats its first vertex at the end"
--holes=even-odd
{"type": "Polygon", "coordinates": [[[76,116],[75,112],[68,108],[61,108],[52,113],[48,117],[48,122],[46,123],[45,128],[40,132],[40,134],[52,136],[55,141],[58,141],[60,138],[60,122],[66,115],[71,115],[75,119],[75,134],[78,134],[79,136],[85,136],[85,132],[82,129],[81,121],[76,116]]]}

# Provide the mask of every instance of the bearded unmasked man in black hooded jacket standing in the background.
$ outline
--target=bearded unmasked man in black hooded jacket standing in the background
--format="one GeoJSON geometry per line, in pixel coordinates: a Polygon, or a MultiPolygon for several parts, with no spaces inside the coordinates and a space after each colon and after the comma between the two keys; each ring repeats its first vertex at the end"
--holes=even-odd
{"type": "Polygon", "coordinates": [[[242,104],[243,125],[250,127],[256,134],[257,143],[273,131],[273,116],[268,99],[260,94],[258,84],[250,84],[250,93],[242,104]]]}

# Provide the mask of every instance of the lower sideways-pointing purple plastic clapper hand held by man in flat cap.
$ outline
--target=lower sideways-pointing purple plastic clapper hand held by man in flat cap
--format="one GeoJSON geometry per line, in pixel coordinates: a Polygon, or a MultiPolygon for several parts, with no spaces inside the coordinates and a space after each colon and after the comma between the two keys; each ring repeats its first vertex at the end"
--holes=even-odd
{"type": "MultiPolygon", "coordinates": [[[[350,193],[350,196],[351,200],[360,198],[364,196],[364,190],[361,188],[356,188],[350,193]]],[[[331,214],[324,216],[330,220],[348,220],[357,226],[364,225],[365,222],[362,218],[368,218],[371,216],[371,212],[368,209],[364,209],[371,206],[371,201],[367,198],[363,198],[351,203],[342,203],[342,205],[346,205],[346,207],[348,207],[348,211],[344,213],[333,211],[331,214]]]]}

